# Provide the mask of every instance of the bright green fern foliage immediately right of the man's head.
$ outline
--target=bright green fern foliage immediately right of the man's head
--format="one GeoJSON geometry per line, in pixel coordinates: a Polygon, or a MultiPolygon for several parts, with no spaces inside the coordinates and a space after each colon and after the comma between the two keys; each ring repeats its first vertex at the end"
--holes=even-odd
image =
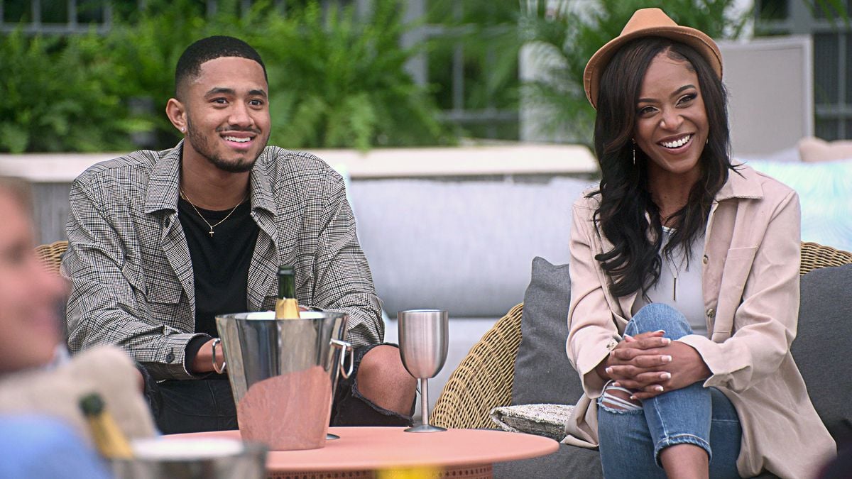
{"type": "Polygon", "coordinates": [[[452,143],[428,91],[406,72],[402,5],[374,2],[273,16],[251,35],[270,82],[273,140],[288,146],[416,146],[452,143]]]}

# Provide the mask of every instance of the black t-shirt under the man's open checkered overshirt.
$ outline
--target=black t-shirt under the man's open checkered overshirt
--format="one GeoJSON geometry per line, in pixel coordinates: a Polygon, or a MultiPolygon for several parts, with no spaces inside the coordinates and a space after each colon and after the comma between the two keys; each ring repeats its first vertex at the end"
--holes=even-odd
{"type": "MultiPolygon", "coordinates": [[[[195,332],[218,338],[216,315],[248,310],[249,266],[260,229],[250,216],[251,202],[248,199],[237,206],[222,224],[213,228],[212,236],[207,222],[216,225],[231,210],[199,208],[195,211],[193,205],[183,198],[179,199],[177,210],[193,261],[195,332]]],[[[196,348],[194,352],[197,351],[196,348]]]]}

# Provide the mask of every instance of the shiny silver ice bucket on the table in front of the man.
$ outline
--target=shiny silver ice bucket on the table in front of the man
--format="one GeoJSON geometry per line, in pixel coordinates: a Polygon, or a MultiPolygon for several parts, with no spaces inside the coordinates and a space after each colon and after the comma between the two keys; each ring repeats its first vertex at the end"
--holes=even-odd
{"type": "Polygon", "coordinates": [[[354,362],[347,320],[334,311],[298,320],[276,320],[272,311],[216,316],[245,441],[273,451],[325,446],[337,375],[348,378],[354,362]]]}

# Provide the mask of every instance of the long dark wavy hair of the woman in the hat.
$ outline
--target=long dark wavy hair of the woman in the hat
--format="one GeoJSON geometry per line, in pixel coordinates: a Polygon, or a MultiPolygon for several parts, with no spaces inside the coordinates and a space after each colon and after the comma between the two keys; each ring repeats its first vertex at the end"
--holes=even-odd
{"type": "MultiPolygon", "coordinates": [[[[659,280],[662,259],[662,218],[648,191],[648,157],[632,137],[636,125],[636,104],[642,78],[653,58],[660,53],[687,61],[696,72],[710,127],[701,153],[701,176],[689,192],[687,204],[671,216],[675,231],[663,254],[671,257],[677,248],[687,252],[703,234],[713,197],[728,180],[730,133],[728,95],[722,80],[694,49],[668,38],[639,38],[625,44],[613,55],[602,73],[595,120],[595,153],[601,164],[600,194],[595,222],[613,249],[595,259],[611,278],[609,291],[622,297],[648,290],[659,280]]],[[[688,254],[685,255],[688,258],[688,254]]],[[[688,267],[688,265],[687,265],[688,267]]]]}

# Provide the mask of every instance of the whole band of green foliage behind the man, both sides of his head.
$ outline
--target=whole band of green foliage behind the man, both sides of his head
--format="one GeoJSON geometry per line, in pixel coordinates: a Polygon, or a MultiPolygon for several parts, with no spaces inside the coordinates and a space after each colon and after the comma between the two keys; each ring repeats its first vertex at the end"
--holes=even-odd
{"type": "Polygon", "coordinates": [[[272,2],[150,0],[122,10],[106,35],[0,43],[0,151],[105,151],[171,147],[180,137],[164,114],[174,68],[189,43],[232,35],[268,68],[273,130],[284,147],[452,144],[428,89],[414,84],[400,47],[399,0],[278,9],[272,2]],[[125,11],[127,10],[127,11],[125,11]]]}

